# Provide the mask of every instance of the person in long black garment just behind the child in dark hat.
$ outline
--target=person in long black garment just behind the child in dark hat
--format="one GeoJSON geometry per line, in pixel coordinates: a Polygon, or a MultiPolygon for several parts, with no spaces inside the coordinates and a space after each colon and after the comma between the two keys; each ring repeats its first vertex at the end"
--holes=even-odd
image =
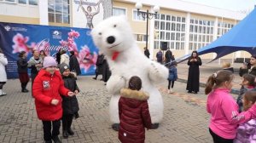
{"type": "Polygon", "coordinates": [[[79,60],[77,59],[76,55],[74,54],[74,51],[70,51],[69,66],[70,66],[71,72],[76,72],[77,75],[81,74],[79,60]]]}

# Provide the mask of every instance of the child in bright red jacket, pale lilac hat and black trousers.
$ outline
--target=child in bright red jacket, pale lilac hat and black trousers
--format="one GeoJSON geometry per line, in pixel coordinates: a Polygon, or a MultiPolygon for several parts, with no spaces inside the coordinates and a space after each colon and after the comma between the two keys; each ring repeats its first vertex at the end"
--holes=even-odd
{"type": "Polygon", "coordinates": [[[43,122],[44,140],[50,143],[60,143],[62,106],[61,95],[73,96],[74,93],[64,87],[59,71],[56,71],[57,63],[53,57],[44,57],[44,69],[40,70],[32,86],[32,94],[35,98],[38,118],[43,122]],[[52,127],[51,127],[52,123],[52,127]],[[51,132],[52,128],[52,132],[51,132]]]}

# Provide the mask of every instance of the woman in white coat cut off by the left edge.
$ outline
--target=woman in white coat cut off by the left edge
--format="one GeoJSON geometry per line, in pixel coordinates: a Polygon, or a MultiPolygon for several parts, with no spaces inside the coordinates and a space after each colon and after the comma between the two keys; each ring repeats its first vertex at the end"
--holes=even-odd
{"type": "Polygon", "coordinates": [[[3,92],[3,85],[7,82],[7,75],[5,66],[8,64],[7,58],[4,56],[2,49],[0,49],[0,96],[6,95],[3,92]]]}

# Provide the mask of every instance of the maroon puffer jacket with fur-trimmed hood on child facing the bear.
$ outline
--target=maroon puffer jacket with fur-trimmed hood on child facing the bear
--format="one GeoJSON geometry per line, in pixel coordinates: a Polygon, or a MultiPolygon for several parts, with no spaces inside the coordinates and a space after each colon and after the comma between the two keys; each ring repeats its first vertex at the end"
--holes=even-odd
{"type": "Polygon", "coordinates": [[[121,89],[119,99],[119,140],[122,143],[143,143],[145,128],[151,127],[148,95],[142,91],[121,89]]]}

